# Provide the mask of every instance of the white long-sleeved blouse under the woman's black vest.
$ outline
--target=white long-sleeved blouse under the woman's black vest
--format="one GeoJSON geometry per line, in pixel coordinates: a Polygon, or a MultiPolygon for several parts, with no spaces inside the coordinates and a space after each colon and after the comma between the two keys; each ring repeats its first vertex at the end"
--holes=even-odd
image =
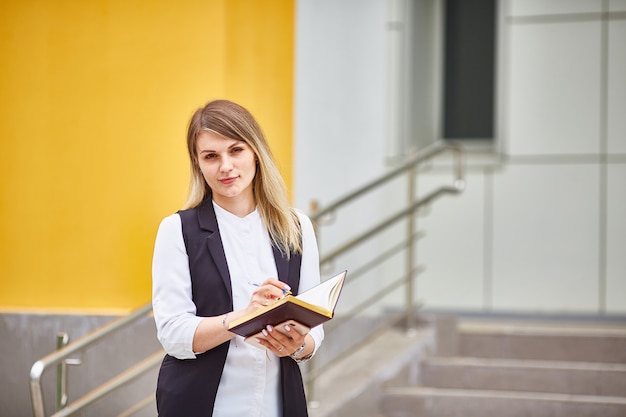
{"type": "MultiPolygon", "coordinates": [[[[277,277],[268,232],[258,210],[237,217],[213,203],[226,254],[235,310],[246,308],[255,287],[277,277]]],[[[302,225],[302,266],[299,291],[320,282],[319,253],[313,225],[298,213],[302,225]]],[[[152,302],[157,336],[165,351],[178,359],[194,359],[193,336],[202,317],[196,316],[191,298],[189,261],[182,236],[180,216],[161,222],[152,263],[152,302]]],[[[315,349],[324,339],[324,330],[311,330],[315,349]]],[[[271,352],[253,347],[240,336],[230,341],[224,372],[215,399],[214,415],[219,417],[279,417],[280,361],[271,352]]]]}

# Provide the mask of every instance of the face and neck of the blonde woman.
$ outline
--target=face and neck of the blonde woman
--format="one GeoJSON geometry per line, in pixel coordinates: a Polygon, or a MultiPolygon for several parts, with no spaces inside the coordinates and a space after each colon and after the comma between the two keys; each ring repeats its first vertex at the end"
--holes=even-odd
{"type": "Polygon", "coordinates": [[[203,131],[196,150],[198,165],[217,204],[225,209],[234,203],[254,204],[256,156],[246,142],[203,131]]]}

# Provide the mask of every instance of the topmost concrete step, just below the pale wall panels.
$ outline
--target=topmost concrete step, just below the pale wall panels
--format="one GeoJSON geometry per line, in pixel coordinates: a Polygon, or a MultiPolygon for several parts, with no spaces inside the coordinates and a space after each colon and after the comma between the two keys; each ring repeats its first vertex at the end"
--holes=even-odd
{"type": "Polygon", "coordinates": [[[626,364],[626,328],[464,323],[458,356],[626,364]]]}

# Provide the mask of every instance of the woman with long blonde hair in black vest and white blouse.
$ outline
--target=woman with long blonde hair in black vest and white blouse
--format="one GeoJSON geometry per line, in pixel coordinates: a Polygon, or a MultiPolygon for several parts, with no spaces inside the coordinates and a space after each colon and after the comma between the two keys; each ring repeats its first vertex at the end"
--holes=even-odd
{"type": "Polygon", "coordinates": [[[258,349],[228,331],[238,317],[320,282],[311,221],[289,207],[263,133],[243,107],[217,100],[189,123],[186,209],[163,219],[153,258],[153,307],[167,352],[161,417],[300,417],[298,362],[324,338],[271,326],[258,349]]]}

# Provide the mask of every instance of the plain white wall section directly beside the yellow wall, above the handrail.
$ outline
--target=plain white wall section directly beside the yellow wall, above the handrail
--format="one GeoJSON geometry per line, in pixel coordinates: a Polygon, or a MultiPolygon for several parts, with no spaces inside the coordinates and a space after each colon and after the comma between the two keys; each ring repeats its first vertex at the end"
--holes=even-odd
{"type": "Polygon", "coordinates": [[[386,15],[382,0],[298,1],[298,207],[338,198],[386,168],[386,15]]]}

